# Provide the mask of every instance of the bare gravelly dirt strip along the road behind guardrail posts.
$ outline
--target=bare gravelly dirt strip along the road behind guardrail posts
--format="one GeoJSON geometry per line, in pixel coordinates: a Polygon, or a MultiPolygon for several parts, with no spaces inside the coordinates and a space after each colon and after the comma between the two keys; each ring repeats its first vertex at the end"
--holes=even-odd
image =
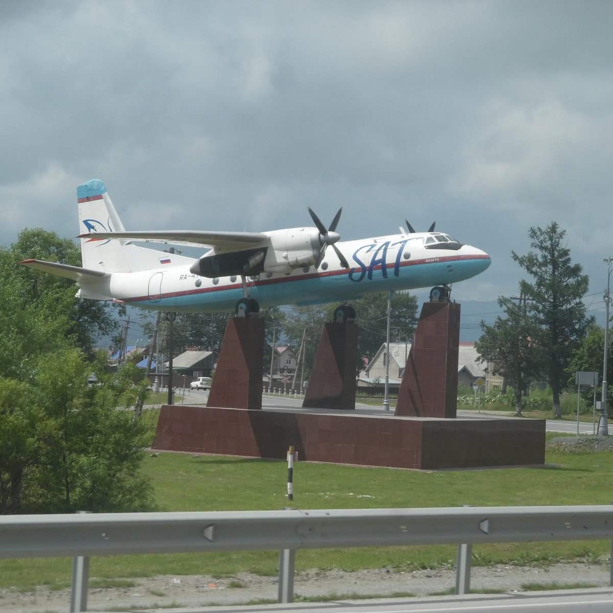
{"type": "MultiPolygon", "coordinates": [[[[240,573],[235,577],[214,579],[210,576],[164,575],[134,579],[134,587],[90,588],[89,611],[129,611],[161,607],[200,607],[246,604],[257,599],[276,600],[276,577],[240,573]]],[[[588,565],[561,563],[549,568],[493,566],[473,568],[473,590],[524,591],[522,585],[538,583],[561,585],[609,585],[608,563],[588,565]]],[[[427,596],[455,586],[455,570],[422,570],[395,573],[387,569],[356,571],[305,571],[297,573],[294,593],[300,596],[392,596],[411,592],[427,596]]],[[[0,590],[2,613],[65,613],[69,610],[70,590],[51,591],[41,587],[36,592],[0,590]]]]}

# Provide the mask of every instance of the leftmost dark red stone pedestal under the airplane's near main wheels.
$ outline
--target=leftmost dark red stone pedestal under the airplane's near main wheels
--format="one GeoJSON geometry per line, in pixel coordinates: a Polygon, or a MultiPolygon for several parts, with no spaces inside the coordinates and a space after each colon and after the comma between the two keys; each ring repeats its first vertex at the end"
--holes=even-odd
{"type": "Polygon", "coordinates": [[[207,406],[262,408],[264,319],[228,319],[207,406]]]}

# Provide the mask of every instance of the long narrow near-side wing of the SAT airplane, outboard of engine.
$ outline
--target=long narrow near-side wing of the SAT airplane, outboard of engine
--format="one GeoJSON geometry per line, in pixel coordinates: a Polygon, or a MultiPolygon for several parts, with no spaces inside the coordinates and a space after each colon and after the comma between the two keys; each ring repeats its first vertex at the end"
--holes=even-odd
{"type": "Polygon", "coordinates": [[[107,238],[124,238],[144,240],[156,243],[173,243],[173,245],[245,248],[267,240],[268,235],[260,232],[202,232],[201,230],[137,230],[136,232],[88,232],[77,238],[106,240],[107,238]]]}

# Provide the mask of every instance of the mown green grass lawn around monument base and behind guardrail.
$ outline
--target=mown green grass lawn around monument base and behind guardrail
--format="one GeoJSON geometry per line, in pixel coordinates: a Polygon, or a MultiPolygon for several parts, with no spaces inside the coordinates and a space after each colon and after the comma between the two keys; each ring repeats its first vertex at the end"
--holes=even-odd
{"type": "MultiPolygon", "coordinates": [[[[554,435],[559,436],[559,435],[554,435]]],[[[544,468],[418,472],[391,468],[300,463],[294,467],[294,501],[302,509],[610,504],[613,452],[548,452],[544,468]]],[[[159,511],[230,511],[287,506],[283,461],[189,454],[145,454],[159,511]]],[[[473,548],[473,563],[539,564],[559,559],[596,560],[609,541],[505,543],[473,548]]],[[[297,552],[297,569],[430,568],[455,563],[454,546],[370,547],[297,552]]],[[[278,552],[220,552],[92,558],[91,577],[276,574],[278,552]]],[[[0,560],[0,587],[62,585],[70,560],[0,560]]]]}

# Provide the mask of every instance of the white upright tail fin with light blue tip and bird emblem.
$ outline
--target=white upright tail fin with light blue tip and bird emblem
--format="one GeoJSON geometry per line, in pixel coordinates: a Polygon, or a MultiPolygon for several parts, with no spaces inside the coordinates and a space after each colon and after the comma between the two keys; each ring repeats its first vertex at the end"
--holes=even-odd
{"type": "MultiPolygon", "coordinates": [[[[124,232],[125,228],[113,207],[107,188],[99,179],[92,179],[77,188],[79,232],[124,232]]],[[[139,272],[160,268],[164,264],[191,263],[191,257],[169,256],[156,249],[134,245],[120,238],[81,238],[83,268],[101,272],[139,272]]]]}

